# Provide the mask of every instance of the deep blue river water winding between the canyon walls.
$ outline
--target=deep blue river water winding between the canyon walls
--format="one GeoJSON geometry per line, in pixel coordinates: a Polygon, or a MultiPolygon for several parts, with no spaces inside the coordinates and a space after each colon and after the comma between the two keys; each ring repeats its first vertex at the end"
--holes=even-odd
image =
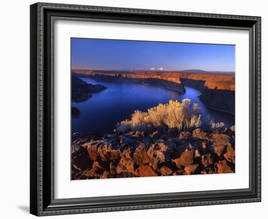
{"type": "Polygon", "coordinates": [[[108,89],[99,93],[93,93],[92,98],[81,103],[72,103],[80,110],[80,116],[72,118],[72,133],[74,132],[110,132],[115,125],[131,118],[134,110],[147,111],[159,103],[168,103],[169,100],[189,98],[192,103],[198,103],[202,113],[210,114],[215,122],[224,122],[228,126],[234,125],[234,115],[213,110],[206,107],[198,96],[201,92],[185,87],[186,93],[130,83],[115,83],[96,81],[91,78],[81,78],[91,84],[101,84],[108,89]]]}

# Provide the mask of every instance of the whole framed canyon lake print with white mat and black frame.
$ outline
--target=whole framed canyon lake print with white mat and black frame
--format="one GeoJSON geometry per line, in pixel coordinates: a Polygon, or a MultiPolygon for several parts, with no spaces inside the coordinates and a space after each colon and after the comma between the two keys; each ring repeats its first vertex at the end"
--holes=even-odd
{"type": "Polygon", "coordinates": [[[261,18],[30,6],[30,212],[261,201],[261,18]]]}

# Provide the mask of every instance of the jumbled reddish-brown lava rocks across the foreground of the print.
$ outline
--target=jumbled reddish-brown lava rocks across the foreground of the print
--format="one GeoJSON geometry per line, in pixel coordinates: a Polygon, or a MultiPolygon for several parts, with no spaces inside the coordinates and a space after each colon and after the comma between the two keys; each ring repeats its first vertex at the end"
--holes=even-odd
{"type": "Polygon", "coordinates": [[[233,173],[234,126],[224,130],[75,133],[72,180],[233,173]]]}

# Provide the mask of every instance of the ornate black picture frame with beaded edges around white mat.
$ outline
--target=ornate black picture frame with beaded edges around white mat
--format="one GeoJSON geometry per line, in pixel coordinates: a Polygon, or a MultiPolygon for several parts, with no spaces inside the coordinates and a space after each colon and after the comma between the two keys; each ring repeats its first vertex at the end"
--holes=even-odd
{"type": "MultiPolygon", "coordinates": [[[[261,201],[261,18],[36,3],[30,6],[30,213],[37,216],[261,201]],[[56,19],[249,30],[249,188],[54,198],[56,19]]],[[[239,112],[238,112],[239,113],[239,112]]]]}

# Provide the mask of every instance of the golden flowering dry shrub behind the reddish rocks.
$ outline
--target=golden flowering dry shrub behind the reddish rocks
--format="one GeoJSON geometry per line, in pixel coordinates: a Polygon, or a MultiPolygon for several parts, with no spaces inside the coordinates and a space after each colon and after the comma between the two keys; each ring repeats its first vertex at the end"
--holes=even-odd
{"type": "Polygon", "coordinates": [[[136,110],[132,114],[131,120],[126,120],[117,124],[116,128],[124,133],[132,131],[191,131],[202,125],[200,107],[193,104],[191,100],[184,99],[182,102],[170,100],[167,104],[159,104],[142,112],[136,110]]]}

